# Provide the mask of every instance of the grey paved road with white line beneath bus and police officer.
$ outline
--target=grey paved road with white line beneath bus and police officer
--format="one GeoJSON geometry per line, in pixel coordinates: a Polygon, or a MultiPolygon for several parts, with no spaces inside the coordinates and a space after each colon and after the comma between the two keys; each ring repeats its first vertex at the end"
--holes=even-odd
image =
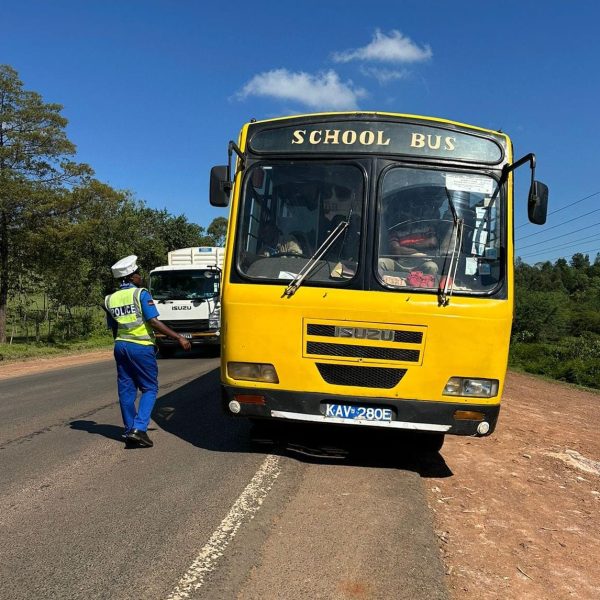
{"type": "Polygon", "coordinates": [[[251,430],[217,367],[160,361],[152,449],[124,448],[111,360],[0,381],[0,597],[446,598],[422,489],[443,459],[251,430]]]}

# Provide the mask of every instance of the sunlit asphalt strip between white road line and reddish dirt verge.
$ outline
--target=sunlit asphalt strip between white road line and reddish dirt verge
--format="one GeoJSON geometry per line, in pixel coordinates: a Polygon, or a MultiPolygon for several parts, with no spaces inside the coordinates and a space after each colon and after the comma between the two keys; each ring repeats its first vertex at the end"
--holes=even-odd
{"type": "Polygon", "coordinates": [[[271,527],[239,600],[448,597],[417,473],[309,465],[271,527]]]}

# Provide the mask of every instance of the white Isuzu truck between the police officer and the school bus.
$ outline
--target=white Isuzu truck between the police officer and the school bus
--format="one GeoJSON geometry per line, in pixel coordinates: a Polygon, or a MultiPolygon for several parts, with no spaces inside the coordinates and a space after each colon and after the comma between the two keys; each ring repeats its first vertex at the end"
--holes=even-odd
{"type": "MultiPolygon", "coordinates": [[[[225,248],[196,246],[169,252],[167,265],[150,271],[150,293],[158,319],[190,340],[193,346],[219,348],[221,342],[221,271],[225,248]]],[[[178,343],[156,334],[162,357],[178,343]]]]}

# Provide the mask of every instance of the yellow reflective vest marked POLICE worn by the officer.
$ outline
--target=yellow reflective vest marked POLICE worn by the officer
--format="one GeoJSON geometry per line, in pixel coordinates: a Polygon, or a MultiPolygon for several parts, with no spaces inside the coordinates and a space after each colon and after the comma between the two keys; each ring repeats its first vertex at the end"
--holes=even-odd
{"type": "Polygon", "coordinates": [[[144,288],[125,288],[106,296],[104,306],[117,322],[115,341],[154,345],[154,331],[144,321],[140,296],[144,288]]]}

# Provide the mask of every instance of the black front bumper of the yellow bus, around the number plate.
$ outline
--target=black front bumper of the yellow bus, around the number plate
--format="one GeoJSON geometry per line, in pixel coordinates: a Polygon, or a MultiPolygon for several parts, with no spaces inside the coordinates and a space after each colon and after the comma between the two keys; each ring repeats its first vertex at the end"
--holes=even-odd
{"type": "MultiPolygon", "coordinates": [[[[362,425],[386,429],[428,431],[450,435],[485,436],[493,433],[500,404],[434,402],[395,398],[365,398],[308,392],[240,388],[221,385],[222,405],[231,416],[362,425]],[[387,421],[328,416],[328,405],[392,410],[387,421]],[[478,414],[477,414],[478,413],[478,414]],[[465,418],[466,417],[466,418],[465,418]],[[475,418],[468,418],[475,417],[475,418]],[[483,425],[486,424],[486,425],[483,425]]],[[[339,415],[339,412],[337,413],[339,415]]]]}

